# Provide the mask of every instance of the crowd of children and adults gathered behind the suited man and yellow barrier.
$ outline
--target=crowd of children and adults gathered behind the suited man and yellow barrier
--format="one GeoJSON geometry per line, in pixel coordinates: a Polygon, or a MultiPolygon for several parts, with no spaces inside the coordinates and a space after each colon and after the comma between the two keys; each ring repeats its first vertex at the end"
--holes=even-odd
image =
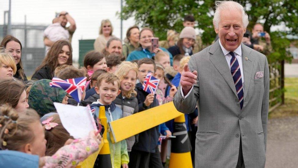
{"type": "MultiPolygon", "coordinates": [[[[111,22],[102,20],[94,50],[85,54],[84,67],[77,68],[72,65],[71,46],[76,25],[71,15],[63,11],[44,31],[47,52],[31,80],[21,62],[22,44],[16,37],[7,35],[0,44],[1,150],[11,152],[8,153],[11,161],[27,158],[22,162],[29,167],[77,165],[97,151],[101,136],[90,132],[86,138],[74,140],[64,129],[53,103],[89,104],[95,109],[96,118],[99,107],[104,106],[111,122],[173,101],[184,65],[192,54],[204,48],[201,36],[194,29],[195,21],[192,15],[185,16],[180,33],[169,30],[167,39],[153,47],[151,39],[155,36],[151,28],[130,27],[122,43],[113,35],[111,22]],[[155,94],[142,88],[147,73],[160,80],[155,94]],[[61,88],[50,87],[53,77],[62,80],[87,77],[81,101],[77,102],[61,88]],[[46,127],[49,122],[57,125],[46,127]]],[[[254,25],[252,33],[245,32],[242,43],[264,54],[272,50],[270,35],[259,23],[254,25]]],[[[185,114],[193,161],[198,111],[196,108],[194,113],[185,114]]],[[[165,166],[168,138],[160,141],[159,136],[171,136],[173,127],[173,120],[167,121],[115,144],[107,134],[113,167],[165,166]]],[[[1,164],[9,167],[16,162],[1,164]]]]}

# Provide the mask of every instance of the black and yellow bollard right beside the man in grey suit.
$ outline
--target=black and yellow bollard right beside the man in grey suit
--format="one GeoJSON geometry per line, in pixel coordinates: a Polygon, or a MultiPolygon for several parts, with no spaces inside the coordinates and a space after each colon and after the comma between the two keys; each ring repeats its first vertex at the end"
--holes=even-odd
{"type": "Polygon", "coordinates": [[[176,138],[171,138],[169,168],[192,168],[190,141],[187,134],[184,114],[175,118],[173,136],[176,136],[176,138]]]}

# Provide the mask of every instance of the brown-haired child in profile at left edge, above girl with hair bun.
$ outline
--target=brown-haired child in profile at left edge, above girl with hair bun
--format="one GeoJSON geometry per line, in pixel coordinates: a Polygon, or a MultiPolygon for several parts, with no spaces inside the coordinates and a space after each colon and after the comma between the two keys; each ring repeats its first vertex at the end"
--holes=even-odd
{"type": "Polygon", "coordinates": [[[18,113],[25,112],[29,108],[25,89],[25,84],[21,80],[0,80],[0,104],[12,106],[18,113]]]}

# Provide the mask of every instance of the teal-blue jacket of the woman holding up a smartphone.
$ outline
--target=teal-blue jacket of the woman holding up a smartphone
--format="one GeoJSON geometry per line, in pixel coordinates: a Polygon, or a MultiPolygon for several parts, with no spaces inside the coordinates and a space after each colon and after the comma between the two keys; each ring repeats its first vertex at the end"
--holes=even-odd
{"type": "MultiPolygon", "coordinates": [[[[162,47],[159,47],[159,48],[169,54],[171,66],[173,66],[172,54],[165,48],[162,48],[162,47]]],[[[139,47],[128,55],[128,57],[126,58],[126,61],[140,60],[142,58],[152,58],[154,55],[155,53],[151,53],[147,49],[145,49],[144,51],[142,47],[139,47]]]]}

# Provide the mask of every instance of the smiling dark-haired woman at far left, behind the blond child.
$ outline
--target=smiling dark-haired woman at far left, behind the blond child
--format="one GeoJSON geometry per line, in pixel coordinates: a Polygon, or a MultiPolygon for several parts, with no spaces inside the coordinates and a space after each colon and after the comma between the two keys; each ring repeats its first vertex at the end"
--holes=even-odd
{"type": "Polygon", "coordinates": [[[6,35],[0,44],[1,48],[5,48],[5,51],[13,57],[16,62],[16,74],[13,77],[18,78],[23,81],[27,81],[27,77],[24,73],[21,53],[22,53],[22,44],[20,40],[13,37],[12,35],[6,35]]]}

